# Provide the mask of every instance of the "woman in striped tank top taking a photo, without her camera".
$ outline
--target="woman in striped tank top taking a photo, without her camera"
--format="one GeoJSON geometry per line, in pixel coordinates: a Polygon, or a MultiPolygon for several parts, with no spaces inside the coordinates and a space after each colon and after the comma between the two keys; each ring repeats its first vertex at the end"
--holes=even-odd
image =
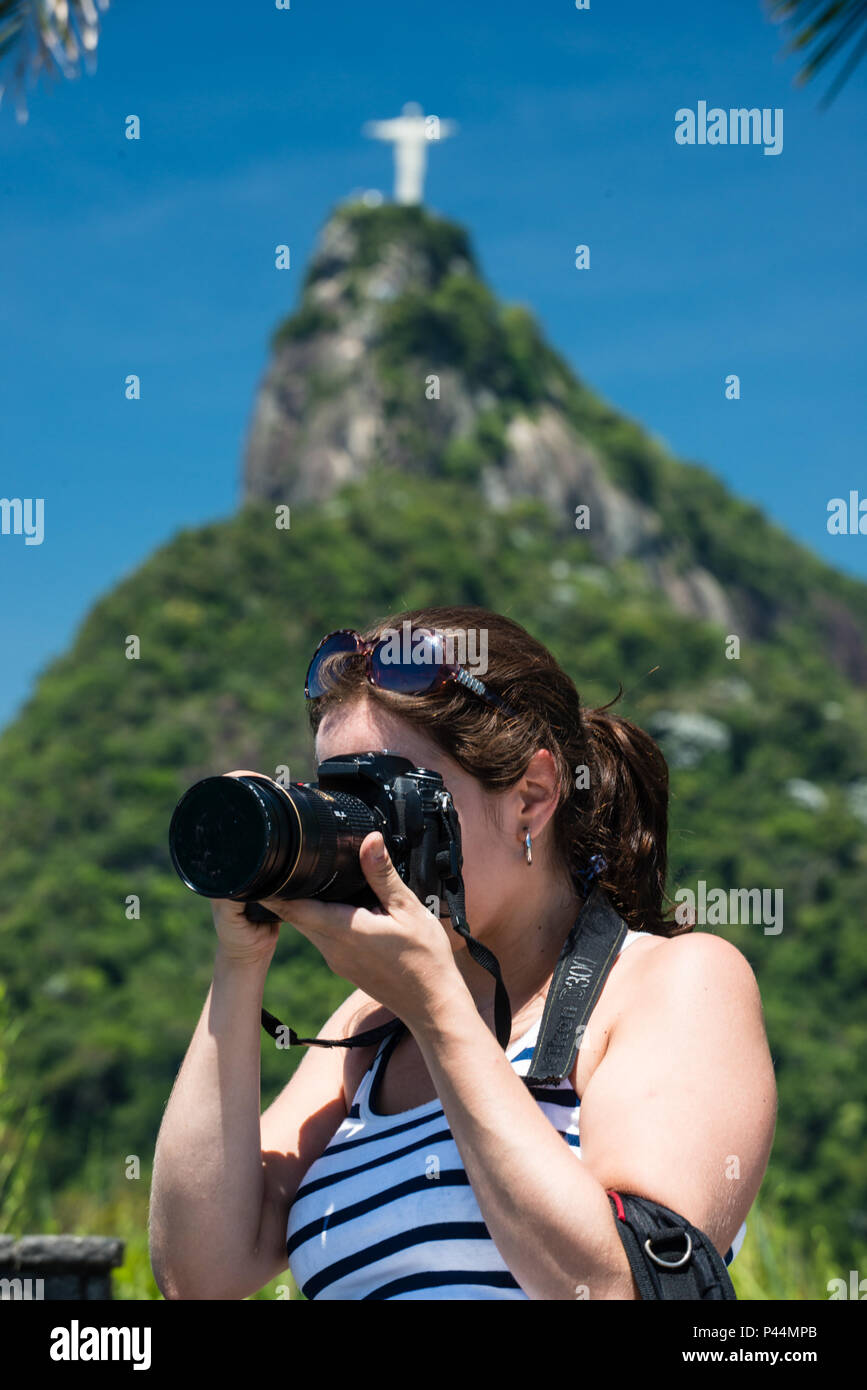
{"type": "Polygon", "coordinates": [[[663,912],[656,744],[584,709],[539,642],[475,607],[332,635],[307,691],[317,762],[388,749],[442,774],[470,931],[509,991],[510,1045],[495,1036],[490,974],[446,905],[438,923],[370,834],[360,860],[381,910],[265,906],[357,986],[320,1037],[395,1017],[406,1030],[381,1047],[310,1048],[260,1120],[260,1009],[279,926],[214,902],[214,980],[154,1163],[165,1297],[245,1298],[289,1261],[313,1298],[636,1298],[607,1188],[664,1204],[734,1258],[771,1150],[774,1070],[746,959],[663,912]],[[388,671],[375,646],[404,623],[475,635],[484,682],[464,670],[408,694],[418,669],[388,671]],[[629,933],[571,1074],[534,1094],[521,1076],[589,866],[629,933]]]}

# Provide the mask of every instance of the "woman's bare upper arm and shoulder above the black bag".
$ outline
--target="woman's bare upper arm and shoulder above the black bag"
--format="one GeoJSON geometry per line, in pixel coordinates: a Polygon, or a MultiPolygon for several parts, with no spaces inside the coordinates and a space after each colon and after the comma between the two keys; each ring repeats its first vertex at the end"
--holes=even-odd
{"type": "Polygon", "coordinates": [[[703,931],[647,952],[582,1097],[592,1172],[671,1207],[724,1255],[761,1186],[775,1119],[774,1063],[745,956],[703,931]]]}

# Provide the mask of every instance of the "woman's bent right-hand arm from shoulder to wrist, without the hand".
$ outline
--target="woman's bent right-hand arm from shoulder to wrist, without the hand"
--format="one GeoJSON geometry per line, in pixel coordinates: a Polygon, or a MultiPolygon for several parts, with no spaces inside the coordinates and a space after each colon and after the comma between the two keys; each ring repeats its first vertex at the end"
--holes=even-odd
{"type": "Polygon", "coordinates": [[[647,954],[582,1097],[581,1159],[468,992],[410,1026],[488,1230],[531,1298],[638,1297],[607,1187],[663,1202],[725,1252],[775,1119],[759,990],[727,941],[682,937],[647,954]]]}

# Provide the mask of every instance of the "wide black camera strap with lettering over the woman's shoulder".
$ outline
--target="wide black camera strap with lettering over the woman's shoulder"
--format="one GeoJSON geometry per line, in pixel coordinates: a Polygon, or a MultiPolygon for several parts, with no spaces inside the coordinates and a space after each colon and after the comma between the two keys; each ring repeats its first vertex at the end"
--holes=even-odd
{"type": "Polygon", "coordinates": [[[572,926],[545,1001],[539,1037],[524,1080],[550,1086],[570,1076],[586,1022],[625,940],[627,923],[596,884],[572,926]]]}

